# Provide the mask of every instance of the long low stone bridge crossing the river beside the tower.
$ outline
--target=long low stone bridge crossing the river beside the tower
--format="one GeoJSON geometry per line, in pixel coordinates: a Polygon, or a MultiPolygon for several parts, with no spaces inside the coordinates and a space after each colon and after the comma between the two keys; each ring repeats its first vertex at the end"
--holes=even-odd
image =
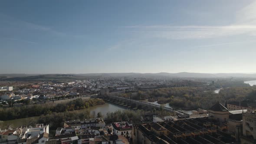
{"type": "MultiPolygon", "coordinates": [[[[131,107],[131,105],[136,105],[136,107],[138,108],[138,106],[141,105],[142,107],[160,109],[159,105],[155,105],[155,104],[151,104],[148,102],[139,101],[135,99],[130,99],[130,98],[118,97],[115,95],[105,95],[105,96],[102,96],[101,98],[103,98],[106,101],[112,101],[116,104],[121,104],[121,105],[123,104],[124,106],[128,106],[128,107],[131,107]]],[[[189,115],[185,114],[182,111],[174,110],[172,108],[167,108],[167,107],[162,107],[162,108],[165,111],[175,112],[178,116],[181,116],[183,118],[189,117],[189,115]]]]}

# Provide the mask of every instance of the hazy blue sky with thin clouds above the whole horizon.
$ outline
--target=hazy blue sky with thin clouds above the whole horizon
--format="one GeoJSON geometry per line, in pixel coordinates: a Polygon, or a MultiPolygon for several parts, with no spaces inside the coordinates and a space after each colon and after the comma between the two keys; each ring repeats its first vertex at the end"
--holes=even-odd
{"type": "Polygon", "coordinates": [[[256,72],[253,0],[1,0],[0,73],[256,72]]]}

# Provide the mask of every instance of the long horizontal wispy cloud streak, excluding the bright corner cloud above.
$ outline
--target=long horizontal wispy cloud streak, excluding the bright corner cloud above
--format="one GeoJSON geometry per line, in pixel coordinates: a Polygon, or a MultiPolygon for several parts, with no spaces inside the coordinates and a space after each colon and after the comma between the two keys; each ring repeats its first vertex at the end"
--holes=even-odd
{"type": "Polygon", "coordinates": [[[230,26],[128,26],[132,32],[166,39],[203,39],[247,34],[255,36],[255,25],[230,26]]]}

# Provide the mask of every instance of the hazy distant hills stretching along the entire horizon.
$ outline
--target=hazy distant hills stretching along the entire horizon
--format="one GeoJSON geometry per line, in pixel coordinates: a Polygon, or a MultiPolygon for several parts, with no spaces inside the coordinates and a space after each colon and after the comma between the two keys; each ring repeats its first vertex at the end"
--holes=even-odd
{"type": "Polygon", "coordinates": [[[176,78],[256,78],[256,74],[244,73],[88,73],[88,74],[0,74],[0,80],[5,81],[23,81],[36,79],[85,79],[87,77],[176,77],[176,78]]]}

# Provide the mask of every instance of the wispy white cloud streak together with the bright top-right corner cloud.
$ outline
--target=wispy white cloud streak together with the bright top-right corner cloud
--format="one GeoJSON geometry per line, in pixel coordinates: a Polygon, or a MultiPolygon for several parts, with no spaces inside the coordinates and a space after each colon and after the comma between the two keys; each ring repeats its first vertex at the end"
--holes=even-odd
{"type": "Polygon", "coordinates": [[[223,36],[248,35],[256,36],[256,2],[251,3],[236,13],[236,21],[223,26],[125,26],[131,32],[144,36],[153,36],[164,39],[205,39],[223,36]]]}

